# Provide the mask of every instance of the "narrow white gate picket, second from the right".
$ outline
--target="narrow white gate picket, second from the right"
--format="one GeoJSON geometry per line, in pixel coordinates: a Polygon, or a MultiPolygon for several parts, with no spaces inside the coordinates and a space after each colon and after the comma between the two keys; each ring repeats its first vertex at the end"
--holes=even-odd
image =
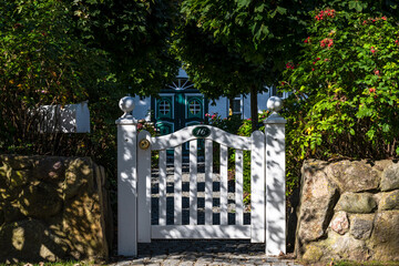
{"type": "Polygon", "coordinates": [[[227,225],[227,146],[221,144],[221,225],[227,225]]]}

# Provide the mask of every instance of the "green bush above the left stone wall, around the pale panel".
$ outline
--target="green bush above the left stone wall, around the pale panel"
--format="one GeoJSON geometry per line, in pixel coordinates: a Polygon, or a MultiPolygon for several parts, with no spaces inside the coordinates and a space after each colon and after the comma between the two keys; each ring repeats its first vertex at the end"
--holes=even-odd
{"type": "Polygon", "coordinates": [[[120,86],[106,54],[73,34],[69,3],[0,3],[0,152],[91,156],[115,176],[120,86]],[[42,134],[41,105],[89,100],[90,134],[42,134]]]}

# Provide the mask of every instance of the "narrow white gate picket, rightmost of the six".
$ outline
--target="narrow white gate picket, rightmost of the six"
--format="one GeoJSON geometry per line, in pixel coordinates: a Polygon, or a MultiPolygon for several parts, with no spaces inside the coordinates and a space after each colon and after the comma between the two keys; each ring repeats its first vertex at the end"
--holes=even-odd
{"type": "Polygon", "coordinates": [[[244,181],[243,181],[243,151],[236,150],[235,154],[235,204],[236,204],[236,225],[244,224],[244,181]]]}

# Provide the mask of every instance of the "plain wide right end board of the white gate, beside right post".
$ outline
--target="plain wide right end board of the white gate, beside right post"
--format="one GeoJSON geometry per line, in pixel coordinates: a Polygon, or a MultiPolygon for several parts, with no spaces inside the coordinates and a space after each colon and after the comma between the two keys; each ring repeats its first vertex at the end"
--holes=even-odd
{"type": "Polygon", "coordinates": [[[252,133],[250,149],[250,227],[252,243],[265,242],[265,134],[252,133]]]}

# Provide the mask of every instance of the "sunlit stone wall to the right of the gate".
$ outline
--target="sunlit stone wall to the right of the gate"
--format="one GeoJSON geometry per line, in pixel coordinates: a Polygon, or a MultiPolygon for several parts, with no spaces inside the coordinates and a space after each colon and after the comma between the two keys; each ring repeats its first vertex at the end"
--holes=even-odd
{"type": "Polygon", "coordinates": [[[306,161],[296,255],[307,260],[399,260],[399,163],[306,161]]]}

